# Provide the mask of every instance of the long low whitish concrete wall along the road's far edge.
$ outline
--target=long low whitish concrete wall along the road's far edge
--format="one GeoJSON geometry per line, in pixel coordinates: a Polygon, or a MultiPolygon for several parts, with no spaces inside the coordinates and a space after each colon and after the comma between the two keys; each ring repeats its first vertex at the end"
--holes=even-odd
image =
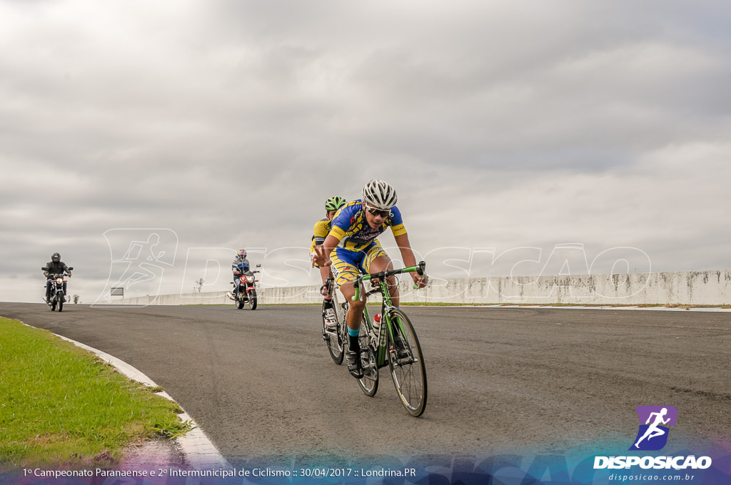
{"type": "MultiPolygon", "coordinates": [[[[414,290],[411,278],[400,284],[404,302],[465,304],[569,303],[578,305],[731,305],[731,270],[661,272],[629,275],[559,275],[540,277],[433,278],[414,290]]],[[[317,303],[318,286],[261,288],[262,304],[317,303]]],[[[224,291],[126,298],[116,305],[233,304],[224,291]]]]}

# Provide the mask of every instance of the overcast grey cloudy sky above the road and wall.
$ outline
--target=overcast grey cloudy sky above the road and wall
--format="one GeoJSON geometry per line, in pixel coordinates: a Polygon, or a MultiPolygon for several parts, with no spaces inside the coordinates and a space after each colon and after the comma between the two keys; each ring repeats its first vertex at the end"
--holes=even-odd
{"type": "Polygon", "coordinates": [[[371,177],[436,276],[518,254],[516,273],[558,271],[564,243],[592,272],[728,269],[730,18],[721,1],[0,0],[0,299],[38,301],[59,251],[93,302],[143,235],[124,228],[175,234],[164,292],[206,259],[226,278],[205,290],[228,289],[213,248],[240,246],[262,248],[265,283],[317,283],[295,248],[371,177]]]}

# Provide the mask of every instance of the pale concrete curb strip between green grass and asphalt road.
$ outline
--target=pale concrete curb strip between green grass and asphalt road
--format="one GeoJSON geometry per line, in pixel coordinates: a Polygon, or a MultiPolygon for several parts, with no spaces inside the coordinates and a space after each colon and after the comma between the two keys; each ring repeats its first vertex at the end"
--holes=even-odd
{"type": "MultiPolygon", "coordinates": [[[[63,335],[57,336],[61,337],[63,340],[67,340],[68,342],[73,343],[74,345],[77,345],[77,347],[93,352],[94,354],[96,354],[96,356],[99,356],[99,359],[102,359],[103,361],[111,364],[116,370],[118,370],[119,373],[125,375],[127,378],[132,379],[133,381],[137,381],[139,383],[143,383],[145,384],[145,386],[157,387],[157,384],[154,383],[151,378],[148,378],[147,375],[141,373],[140,370],[137,370],[135,367],[132,367],[123,360],[117,359],[115,356],[107,354],[106,352],[99,351],[96,348],[84,345],[83,343],[77,342],[76,340],[64,337],[63,335]]],[[[159,394],[160,396],[175,402],[175,400],[173,400],[173,398],[170,397],[170,394],[167,394],[167,392],[158,392],[156,394],[159,394]]],[[[176,404],[178,403],[176,402],[176,404]]],[[[178,406],[180,406],[180,404],[178,404],[178,406]]],[[[183,409],[182,406],[181,409],[183,409]]],[[[181,421],[191,421],[192,424],[195,426],[194,429],[173,440],[177,445],[177,448],[183,453],[186,462],[188,462],[192,468],[194,468],[195,470],[231,468],[231,465],[226,461],[226,459],[224,459],[223,456],[221,456],[218,448],[213,445],[208,436],[205,435],[205,432],[203,432],[203,430],[200,429],[197,424],[195,424],[195,421],[192,419],[191,416],[189,416],[188,413],[185,412],[185,410],[183,410],[183,413],[178,414],[178,416],[180,416],[181,421]]]]}

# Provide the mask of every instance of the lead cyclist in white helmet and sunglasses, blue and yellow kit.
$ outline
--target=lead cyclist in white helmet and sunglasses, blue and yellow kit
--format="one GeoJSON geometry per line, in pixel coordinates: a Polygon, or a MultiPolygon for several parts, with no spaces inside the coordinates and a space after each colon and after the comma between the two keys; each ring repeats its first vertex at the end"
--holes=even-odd
{"type": "MultiPolygon", "coordinates": [[[[389,227],[401,251],[404,266],[416,264],[401,212],[396,207],[397,199],[396,191],[388,183],[383,180],[368,180],[363,187],[363,198],[349,202],[338,211],[325,242],[314,248],[313,261],[320,267],[333,267],[336,283],[346,301],[350,302],[346,314],[349,336],[346,357],[348,371],[356,378],[363,377],[358,333],[366,302],[364,300],[353,302],[351,298],[355,295],[355,288],[347,283],[354,281],[360,272],[368,274],[393,270],[391,259],[376,239],[389,227]]],[[[409,275],[419,288],[426,286],[426,275],[420,276],[416,272],[411,272],[409,275]]],[[[387,283],[391,302],[398,307],[398,287],[395,278],[389,278],[387,283]]]]}

